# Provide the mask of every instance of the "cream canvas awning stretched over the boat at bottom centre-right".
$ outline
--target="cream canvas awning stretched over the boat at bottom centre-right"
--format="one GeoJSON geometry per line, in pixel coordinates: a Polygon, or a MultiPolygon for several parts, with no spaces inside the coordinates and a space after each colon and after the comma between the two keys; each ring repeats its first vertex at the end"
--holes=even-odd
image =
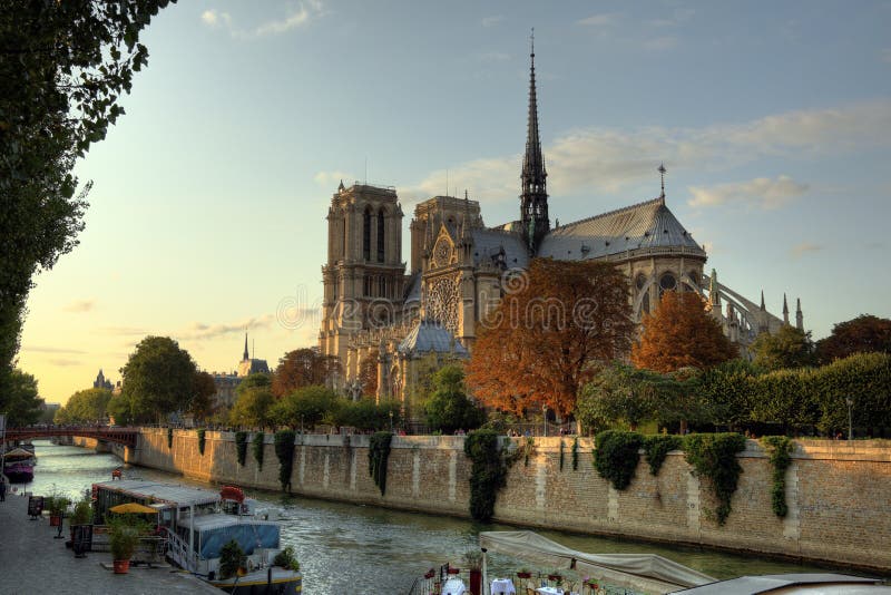
{"type": "Polygon", "coordinates": [[[672,593],[717,581],[656,554],[588,554],[533,531],[483,531],[480,547],[645,592],[672,593]]]}

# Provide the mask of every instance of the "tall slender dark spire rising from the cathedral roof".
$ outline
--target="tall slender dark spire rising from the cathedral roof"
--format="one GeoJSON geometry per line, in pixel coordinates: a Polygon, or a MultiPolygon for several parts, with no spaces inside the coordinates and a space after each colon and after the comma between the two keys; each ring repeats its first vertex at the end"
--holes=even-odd
{"type": "Polygon", "coordinates": [[[535,29],[530,38],[529,52],[529,114],[526,124],[526,154],[522,158],[522,194],[520,195],[520,218],[523,238],[529,251],[535,254],[541,238],[550,231],[548,218],[548,193],[545,170],[545,156],[538,134],[538,99],[536,97],[536,38],[535,29]]]}

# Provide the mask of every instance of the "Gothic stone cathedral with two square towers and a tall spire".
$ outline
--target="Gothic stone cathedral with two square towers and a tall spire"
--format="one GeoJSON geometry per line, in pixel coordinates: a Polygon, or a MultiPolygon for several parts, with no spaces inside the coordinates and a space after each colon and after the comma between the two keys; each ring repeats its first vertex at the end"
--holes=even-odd
{"type": "MultiPolygon", "coordinates": [[[[665,291],[695,291],[743,353],[760,332],[789,324],[722,285],[706,253],[658,197],[567,225],[551,226],[547,172],[530,55],[526,153],[520,172],[520,218],[487,226],[480,204],[434,196],[414,208],[409,226],[410,270],[402,261],[403,212],[395,188],[341,183],[327,213],[327,262],[319,334],[323,354],[336,355],[345,378],[337,389],[358,398],[360,370],[376,368],[376,398],[399,399],[409,414],[419,362],[467,358],[478,324],[498,305],[506,283],[532,257],[613,262],[628,275],[634,316],[640,320],[665,291]]],[[[665,174],[665,168],[659,166],[665,174]]],[[[795,318],[803,328],[801,302],[795,318]]]]}

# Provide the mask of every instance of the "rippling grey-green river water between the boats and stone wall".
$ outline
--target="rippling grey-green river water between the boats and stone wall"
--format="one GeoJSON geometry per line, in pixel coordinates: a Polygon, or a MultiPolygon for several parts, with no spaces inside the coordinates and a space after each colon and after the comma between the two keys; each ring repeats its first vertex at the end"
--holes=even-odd
{"type": "MultiPolygon", "coordinates": [[[[51,490],[72,497],[84,494],[94,481],[108,481],[120,461],[109,453],[35,442],[38,465],[35,480],[27,486],[37,495],[51,490]]],[[[125,478],[156,479],[208,487],[180,476],[129,467],[125,478]]],[[[13,486],[19,490],[23,486],[13,486]]],[[[213,488],[212,488],[213,489],[213,488]]],[[[303,572],[303,592],[407,593],[417,576],[451,562],[460,566],[461,555],[477,548],[480,530],[511,530],[505,525],[478,525],[446,516],[401,513],[309,498],[288,498],[270,491],[248,494],[282,509],[282,542],[293,545],[303,572]]],[[[772,562],[698,548],[656,546],[559,531],[538,531],[574,549],[590,553],[654,553],[718,578],[744,574],[815,572],[825,568],[772,562]]],[[[505,557],[490,557],[490,575],[506,575],[522,565],[505,557]]]]}

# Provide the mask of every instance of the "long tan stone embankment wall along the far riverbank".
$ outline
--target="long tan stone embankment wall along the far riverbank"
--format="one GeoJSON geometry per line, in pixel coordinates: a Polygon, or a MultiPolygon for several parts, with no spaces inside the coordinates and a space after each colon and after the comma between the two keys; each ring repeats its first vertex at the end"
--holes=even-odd
{"type": "MultiPolygon", "coordinates": [[[[278,490],[278,460],[266,436],[263,468],[247,445],[237,462],[234,435],[206,432],[198,452],[195,430],[146,429],[130,455],[137,465],[189,477],[278,490]]],[[[470,460],[463,437],[394,437],[386,495],[368,469],[366,436],[297,436],[291,489],[295,494],[375,506],[468,516],[470,460]]],[[[539,438],[528,466],[510,469],[498,496],[496,520],[530,527],[698,544],[891,570],[891,445],[882,441],[804,441],[786,471],[789,515],[771,509],[773,469],[760,445],[740,455],[743,474],[733,511],[721,527],[707,486],[689,472],[683,452],[672,452],[657,477],[642,456],[631,485],[615,490],[593,466],[593,443],[539,438]],[[560,443],[564,465],[560,469],[560,443]]]]}

